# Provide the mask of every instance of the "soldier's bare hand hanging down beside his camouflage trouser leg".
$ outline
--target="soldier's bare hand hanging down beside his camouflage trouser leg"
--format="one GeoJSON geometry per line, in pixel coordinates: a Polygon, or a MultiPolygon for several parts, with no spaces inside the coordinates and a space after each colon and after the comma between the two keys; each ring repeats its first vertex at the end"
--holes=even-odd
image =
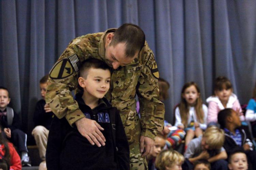
{"type": "Polygon", "coordinates": [[[155,141],[146,136],[140,136],[140,153],[143,153],[141,157],[148,155],[154,150],[155,141]]]}

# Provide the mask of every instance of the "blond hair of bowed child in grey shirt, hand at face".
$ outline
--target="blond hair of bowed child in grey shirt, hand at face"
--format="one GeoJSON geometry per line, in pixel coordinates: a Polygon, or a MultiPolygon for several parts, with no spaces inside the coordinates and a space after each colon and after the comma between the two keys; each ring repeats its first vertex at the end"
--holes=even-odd
{"type": "Polygon", "coordinates": [[[224,144],[224,131],[216,126],[210,126],[205,130],[203,137],[209,145],[210,150],[219,150],[224,144]]]}

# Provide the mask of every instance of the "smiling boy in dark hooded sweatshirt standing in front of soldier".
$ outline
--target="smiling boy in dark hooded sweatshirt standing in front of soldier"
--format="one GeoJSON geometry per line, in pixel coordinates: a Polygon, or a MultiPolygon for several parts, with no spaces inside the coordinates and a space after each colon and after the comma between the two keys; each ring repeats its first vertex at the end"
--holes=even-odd
{"type": "Polygon", "coordinates": [[[84,92],[75,99],[85,116],[104,128],[105,146],[91,145],[65,118],[54,117],[47,142],[47,169],[130,169],[129,145],[120,115],[104,98],[109,89],[109,67],[90,58],[82,62],[79,74],[84,92]]]}

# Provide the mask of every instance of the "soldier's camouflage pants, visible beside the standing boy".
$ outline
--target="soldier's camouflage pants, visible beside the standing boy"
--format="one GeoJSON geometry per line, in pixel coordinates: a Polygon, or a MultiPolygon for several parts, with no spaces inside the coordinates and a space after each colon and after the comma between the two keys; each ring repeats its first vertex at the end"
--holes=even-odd
{"type": "Polygon", "coordinates": [[[139,139],[141,134],[141,126],[139,116],[136,112],[130,111],[128,115],[120,115],[126,137],[130,148],[130,169],[145,170],[148,169],[146,157],[142,158],[139,149],[139,139]]]}

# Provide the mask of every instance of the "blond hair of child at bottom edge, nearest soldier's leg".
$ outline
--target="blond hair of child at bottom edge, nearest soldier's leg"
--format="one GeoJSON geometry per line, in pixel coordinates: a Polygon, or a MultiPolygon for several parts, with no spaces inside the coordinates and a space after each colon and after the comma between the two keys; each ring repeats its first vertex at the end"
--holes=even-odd
{"type": "Polygon", "coordinates": [[[164,170],[165,167],[171,167],[175,163],[184,162],[184,156],[175,150],[163,150],[155,159],[155,167],[164,170]]]}

